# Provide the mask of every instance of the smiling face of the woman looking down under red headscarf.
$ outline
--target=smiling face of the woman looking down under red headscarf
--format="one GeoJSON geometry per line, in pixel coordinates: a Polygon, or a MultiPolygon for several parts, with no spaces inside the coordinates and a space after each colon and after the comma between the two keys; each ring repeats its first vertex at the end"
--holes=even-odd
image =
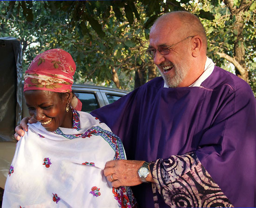
{"type": "Polygon", "coordinates": [[[62,99],[58,93],[46,90],[28,90],[24,95],[30,116],[39,121],[47,131],[53,132],[58,127],[72,127],[72,113],[70,110],[66,112],[68,93],[62,99]]]}

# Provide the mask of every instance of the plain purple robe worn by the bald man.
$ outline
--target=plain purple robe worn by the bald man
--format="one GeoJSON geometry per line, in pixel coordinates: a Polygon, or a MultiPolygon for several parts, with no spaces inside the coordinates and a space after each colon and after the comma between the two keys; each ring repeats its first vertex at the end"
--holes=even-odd
{"type": "MultiPolygon", "coordinates": [[[[128,160],[194,151],[235,207],[256,207],[256,101],[249,85],[219,67],[200,87],[163,85],[155,78],[91,114],[121,137],[128,160]]],[[[141,208],[154,207],[151,184],[133,191],[141,208]]]]}

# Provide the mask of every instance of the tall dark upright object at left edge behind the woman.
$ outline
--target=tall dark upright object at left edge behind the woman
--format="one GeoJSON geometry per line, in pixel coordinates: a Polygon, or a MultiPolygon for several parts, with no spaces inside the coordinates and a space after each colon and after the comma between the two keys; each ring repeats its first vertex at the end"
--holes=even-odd
{"type": "Polygon", "coordinates": [[[22,48],[20,40],[0,38],[0,141],[15,141],[22,115],[22,48]]]}

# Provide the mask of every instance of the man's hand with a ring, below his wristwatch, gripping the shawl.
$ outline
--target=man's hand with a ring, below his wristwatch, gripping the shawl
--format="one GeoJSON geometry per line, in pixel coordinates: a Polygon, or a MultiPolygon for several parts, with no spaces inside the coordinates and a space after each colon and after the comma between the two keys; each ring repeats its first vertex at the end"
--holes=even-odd
{"type": "MultiPolygon", "coordinates": [[[[108,181],[112,182],[112,186],[115,188],[120,186],[136,186],[141,184],[138,170],[143,163],[144,161],[108,161],[105,165],[104,175],[108,181]]],[[[151,173],[149,173],[146,180],[153,182],[151,173]]]]}

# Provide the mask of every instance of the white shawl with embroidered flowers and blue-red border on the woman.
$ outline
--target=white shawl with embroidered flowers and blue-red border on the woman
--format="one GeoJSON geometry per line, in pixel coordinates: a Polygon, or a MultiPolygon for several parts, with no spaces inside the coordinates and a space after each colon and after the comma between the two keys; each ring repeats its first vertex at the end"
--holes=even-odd
{"type": "Polygon", "coordinates": [[[126,159],[120,138],[88,113],[74,114],[73,120],[78,129],[55,132],[29,124],[17,143],[3,208],[131,207],[130,188],[112,188],[103,174],[107,161],[126,159]]]}

